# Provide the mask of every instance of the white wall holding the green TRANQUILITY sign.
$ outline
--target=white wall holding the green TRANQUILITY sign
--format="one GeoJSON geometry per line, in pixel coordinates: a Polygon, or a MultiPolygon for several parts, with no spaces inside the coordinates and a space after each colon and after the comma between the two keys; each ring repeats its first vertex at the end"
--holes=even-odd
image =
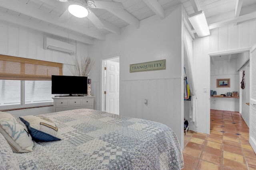
{"type": "Polygon", "coordinates": [[[101,90],[101,60],[120,56],[120,115],[168,125],[183,147],[182,10],[181,5],[167,9],[164,20],[146,18],[139,29],[128,25],[122,35],[108,34],[88,50],[96,60],[90,74],[92,94],[101,90]],[[130,64],[161,59],[166,59],[166,70],[130,73],[130,64]]]}

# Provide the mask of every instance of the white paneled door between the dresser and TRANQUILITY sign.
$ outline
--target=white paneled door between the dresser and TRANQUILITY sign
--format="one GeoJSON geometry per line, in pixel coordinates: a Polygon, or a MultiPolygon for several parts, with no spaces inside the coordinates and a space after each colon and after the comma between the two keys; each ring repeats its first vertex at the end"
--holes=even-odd
{"type": "Polygon", "coordinates": [[[106,112],[119,115],[119,63],[106,61],[106,112]]]}

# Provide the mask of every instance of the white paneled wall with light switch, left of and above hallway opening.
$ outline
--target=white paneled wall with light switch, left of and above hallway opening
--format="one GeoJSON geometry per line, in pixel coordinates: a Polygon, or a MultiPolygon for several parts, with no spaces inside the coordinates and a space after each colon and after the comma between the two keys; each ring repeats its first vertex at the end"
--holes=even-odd
{"type": "Polygon", "coordinates": [[[208,53],[242,49],[256,44],[256,19],[211,29],[209,36],[195,39],[195,86],[198,99],[198,127],[202,133],[210,133],[210,57],[208,53]],[[204,93],[203,88],[208,92],[204,93]]]}

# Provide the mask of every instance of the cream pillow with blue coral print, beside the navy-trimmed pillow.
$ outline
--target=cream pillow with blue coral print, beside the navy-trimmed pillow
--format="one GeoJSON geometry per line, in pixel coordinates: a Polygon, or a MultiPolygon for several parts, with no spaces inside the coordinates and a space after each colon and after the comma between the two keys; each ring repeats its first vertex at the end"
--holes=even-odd
{"type": "Polygon", "coordinates": [[[34,146],[26,125],[18,117],[0,111],[0,133],[9,143],[13,152],[31,152],[34,146]]]}

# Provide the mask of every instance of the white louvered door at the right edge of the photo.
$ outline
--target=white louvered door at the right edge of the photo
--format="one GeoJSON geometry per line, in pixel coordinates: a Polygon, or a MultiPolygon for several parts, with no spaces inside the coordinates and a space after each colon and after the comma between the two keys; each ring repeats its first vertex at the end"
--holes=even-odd
{"type": "Polygon", "coordinates": [[[256,45],[250,50],[250,125],[249,142],[256,152],[256,45]]]}

